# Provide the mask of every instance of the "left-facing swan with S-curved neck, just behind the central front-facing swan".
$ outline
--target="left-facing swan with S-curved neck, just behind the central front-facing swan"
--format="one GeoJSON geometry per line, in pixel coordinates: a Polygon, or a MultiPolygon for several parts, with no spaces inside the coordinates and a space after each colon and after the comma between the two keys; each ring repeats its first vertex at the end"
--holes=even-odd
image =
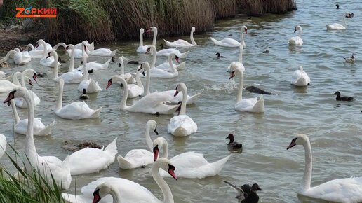
{"type": "Polygon", "coordinates": [[[120,81],[123,85],[123,97],[121,100],[121,109],[132,111],[132,112],[142,112],[142,113],[151,113],[151,114],[172,114],[175,112],[179,105],[166,105],[163,102],[168,101],[168,96],[164,94],[159,94],[154,92],[152,94],[147,94],[145,97],[142,97],[140,100],[135,102],[131,106],[126,105],[126,100],[128,97],[128,84],[126,80],[121,78],[121,76],[114,75],[111,79],[108,80],[108,89],[113,83],[120,81]]]}

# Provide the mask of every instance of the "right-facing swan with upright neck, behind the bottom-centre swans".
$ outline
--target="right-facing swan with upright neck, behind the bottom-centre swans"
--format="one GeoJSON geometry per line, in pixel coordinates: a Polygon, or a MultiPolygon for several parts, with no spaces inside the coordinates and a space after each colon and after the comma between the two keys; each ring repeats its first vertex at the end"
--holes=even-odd
{"type": "Polygon", "coordinates": [[[152,153],[152,139],[149,136],[149,131],[153,130],[156,135],[159,134],[156,130],[157,123],[154,120],[148,120],[146,123],[145,129],[145,138],[147,149],[133,149],[129,151],[124,158],[121,155],[118,155],[117,160],[119,167],[121,169],[135,169],[138,167],[145,167],[147,165],[151,165],[154,162],[154,153],[152,153]]]}

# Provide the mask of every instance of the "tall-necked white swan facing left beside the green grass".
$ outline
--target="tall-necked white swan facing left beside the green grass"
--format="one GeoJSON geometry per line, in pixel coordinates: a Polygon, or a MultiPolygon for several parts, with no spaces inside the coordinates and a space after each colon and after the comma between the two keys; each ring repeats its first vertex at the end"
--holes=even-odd
{"type": "Polygon", "coordinates": [[[53,180],[58,187],[67,190],[72,181],[69,169],[69,156],[64,161],[54,156],[40,156],[36,152],[34,143],[34,104],[32,104],[32,94],[29,94],[23,87],[15,87],[8,93],[8,97],[4,100],[4,104],[11,99],[22,97],[27,102],[28,107],[28,123],[27,136],[25,137],[25,155],[26,159],[25,170],[27,174],[34,175],[39,178],[39,175],[45,179],[50,186],[53,186],[53,180]],[[38,171],[36,174],[34,172],[38,171]]]}

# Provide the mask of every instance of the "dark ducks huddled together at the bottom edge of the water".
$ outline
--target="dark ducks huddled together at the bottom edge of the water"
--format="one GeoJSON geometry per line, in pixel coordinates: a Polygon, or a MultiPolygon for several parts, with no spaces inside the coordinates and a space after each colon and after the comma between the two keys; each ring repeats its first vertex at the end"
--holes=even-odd
{"type": "Polygon", "coordinates": [[[235,186],[232,183],[229,183],[228,181],[224,181],[229,186],[232,186],[235,190],[239,192],[239,195],[237,195],[235,198],[239,199],[238,202],[241,203],[257,203],[259,202],[259,196],[257,195],[257,190],[262,190],[262,188],[257,185],[257,183],[254,183],[253,186],[250,186],[249,184],[244,184],[240,188],[235,186]]]}

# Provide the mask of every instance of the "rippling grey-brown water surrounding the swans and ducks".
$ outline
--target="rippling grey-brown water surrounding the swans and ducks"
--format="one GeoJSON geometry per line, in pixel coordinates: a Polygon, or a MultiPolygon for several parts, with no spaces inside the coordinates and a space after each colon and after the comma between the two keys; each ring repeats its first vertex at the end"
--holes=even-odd
{"type": "MultiPolygon", "coordinates": [[[[361,154],[361,78],[359,69],[362,55],[361,4],[355,1],[340,3],[340,10],[335,9],[334,1],[298,1],[295,12],[287,15],[269,15],[263,18],[235,18],[220,20],[215,23],[215,31],[195,34],[199,44],[191,48],[187,57],[187,69],[173,79],[152,80],[151,91],[173,90],[178,83],[185,83],[189,94],[201,92],[199,101],[188,106],[187,114],[198,124],[198,132],[186,138],[175,138],[167,133],[167,125],[172,116],[155,117],[143,113],[130,113],[119,110],[122,90],[112,85],[98,95],[91,95],[88,104],[91,108],[102,107],[99,119],[64,120],[53,113],[58,95],[58,85],[51,81],[51,68],[41,67],[34,59],[26,66],[1,69],[13,73],[32,67],[36,71],[48,73],[48,78],[39,78],[39,83],[32,90],[41,98],[41,105],[36,106],[36,117],[42,118],[46,125],[56,120],[53,135],[36,138],[36,147],[40,155],[55,155],[64,159],[71,153],[61,148],[65,140],[96,141],[107,145],[118,137],[119,154],[125,155],[133,148],[146,148],[143,139],[145,123],[154,119],[158,123],[160,136],[165,137],[170,145],[170,156],[186,151],[203,153],[210,162],[229,155],[227,134],[234,133],[236,141],[243,144],[243,153],[235,153],[227,162],[219,176],[207,179],[166,179],[175,202],[236,202],[235,191],[222,180],[232,181],[237,185],[258,183],[260,202],[323,202],[306,197],[297,197],[297,189],[304,171],[304,149],[296,146],[286,151],[295,134],[308,134],[314,155],[312,186],[352,175],[362,176],[361,154]],[[326,24],[340,22],[342,15],[350,11],[355,13],[349,20],[346,31],[326,31],[326,24]],[[265,112],[261,114],[234,111],[238,79],[228,80],[227,66],[236,61],[239,48],[224,48],[214,45],[209,37],[221,39],[229,34],[239,39],[241,25],[248,26],[245,36],[246,48],[243,51],[245,86],[260,85],[263,90],[276,95],[264,95],[265,112]],[[304,45],[288,47],[288,39],[293,34],[295,25],[303,28],[304,45]],[[269,54],[263,54],[268,49],[269,54]],[[216,59],[220,52],[226,58],[216,59]],[[355,64],[345,64],[343,57],[356,54],[355,64]],[[311,78],[308,87],[293,87],[290,78],[298,66],[311,78]],[[355,97],[354,102],[336,102],[335,91],[355,97]]],[[[177,37],[180,38],[180,37],[177,37]]],[[[167,38],[169,41],[177,38],[167,38]]],[[[188,36],[183,36],[189,41],[188,36]]],[[[151,43],[151,38],[146,44],[151,43]]],[[[158,44],[161,38],[158,39],[158,44]]],[[[148,55],[138,55],[135,49],[138,41],[122,41],[116,45],[100,47],[118,48],[119,54],[128,59],[142,62],[150,60],[148,55]]],[[[184,50],[182,50],[183,52],[184,50]]],[[[65,55],[58,52],[63,58],[65,55]]],[[[91,57],[100,62],[107,58],[91,57]]],[[[159,57],[156,64],[166,60],[159,57]]],[[[60,73],[67,71],[69,64],[62,64],[60,73]]],[[[76,66],[80,65],[79,59],[76,66]]],[[[134,72],[135,65],[126,65],[126,72],[134,72]]],[[[101,87],[105,89],[107,80],[119,72],[113,63],[108,70],[93,73],[101,87]]],[[[80,92],[77,85],[65,85],[63,104],[77,101],[80,92]]],[[[1,101],[6,94],[0,94],[1,101]]],[[[259,97],[247,91],[243,98],[259,97]]],[[[131,103],[129,101],[128,103],[131,103]]],[[[13,136],[13,118],[11,108],[0,106],[1,133],[18,151],[23,151],[25,136],[13,136]]],[[[25,118],[27,111],[20,109],[20,117],[25,118]]],[[[152,137],[155,137],[152,134],[152,137]]],[[[8,150],[10,151],[10,150],[8,150]]],[[[11,165],[2,158],[1,163],[11,165]]],[[[95,174],[74,177],[70,193],[80,193],[81,186],[102,176],[120,176],[140,183],[161,198],[161,190],[148,174],[149,168],[121,170],[118,163],[109,169],[95,174]],[[74,186],[76,180],[76,186],[74,186]]],[[[177,174],[177,171],[176,171],[177,174]]]]}

